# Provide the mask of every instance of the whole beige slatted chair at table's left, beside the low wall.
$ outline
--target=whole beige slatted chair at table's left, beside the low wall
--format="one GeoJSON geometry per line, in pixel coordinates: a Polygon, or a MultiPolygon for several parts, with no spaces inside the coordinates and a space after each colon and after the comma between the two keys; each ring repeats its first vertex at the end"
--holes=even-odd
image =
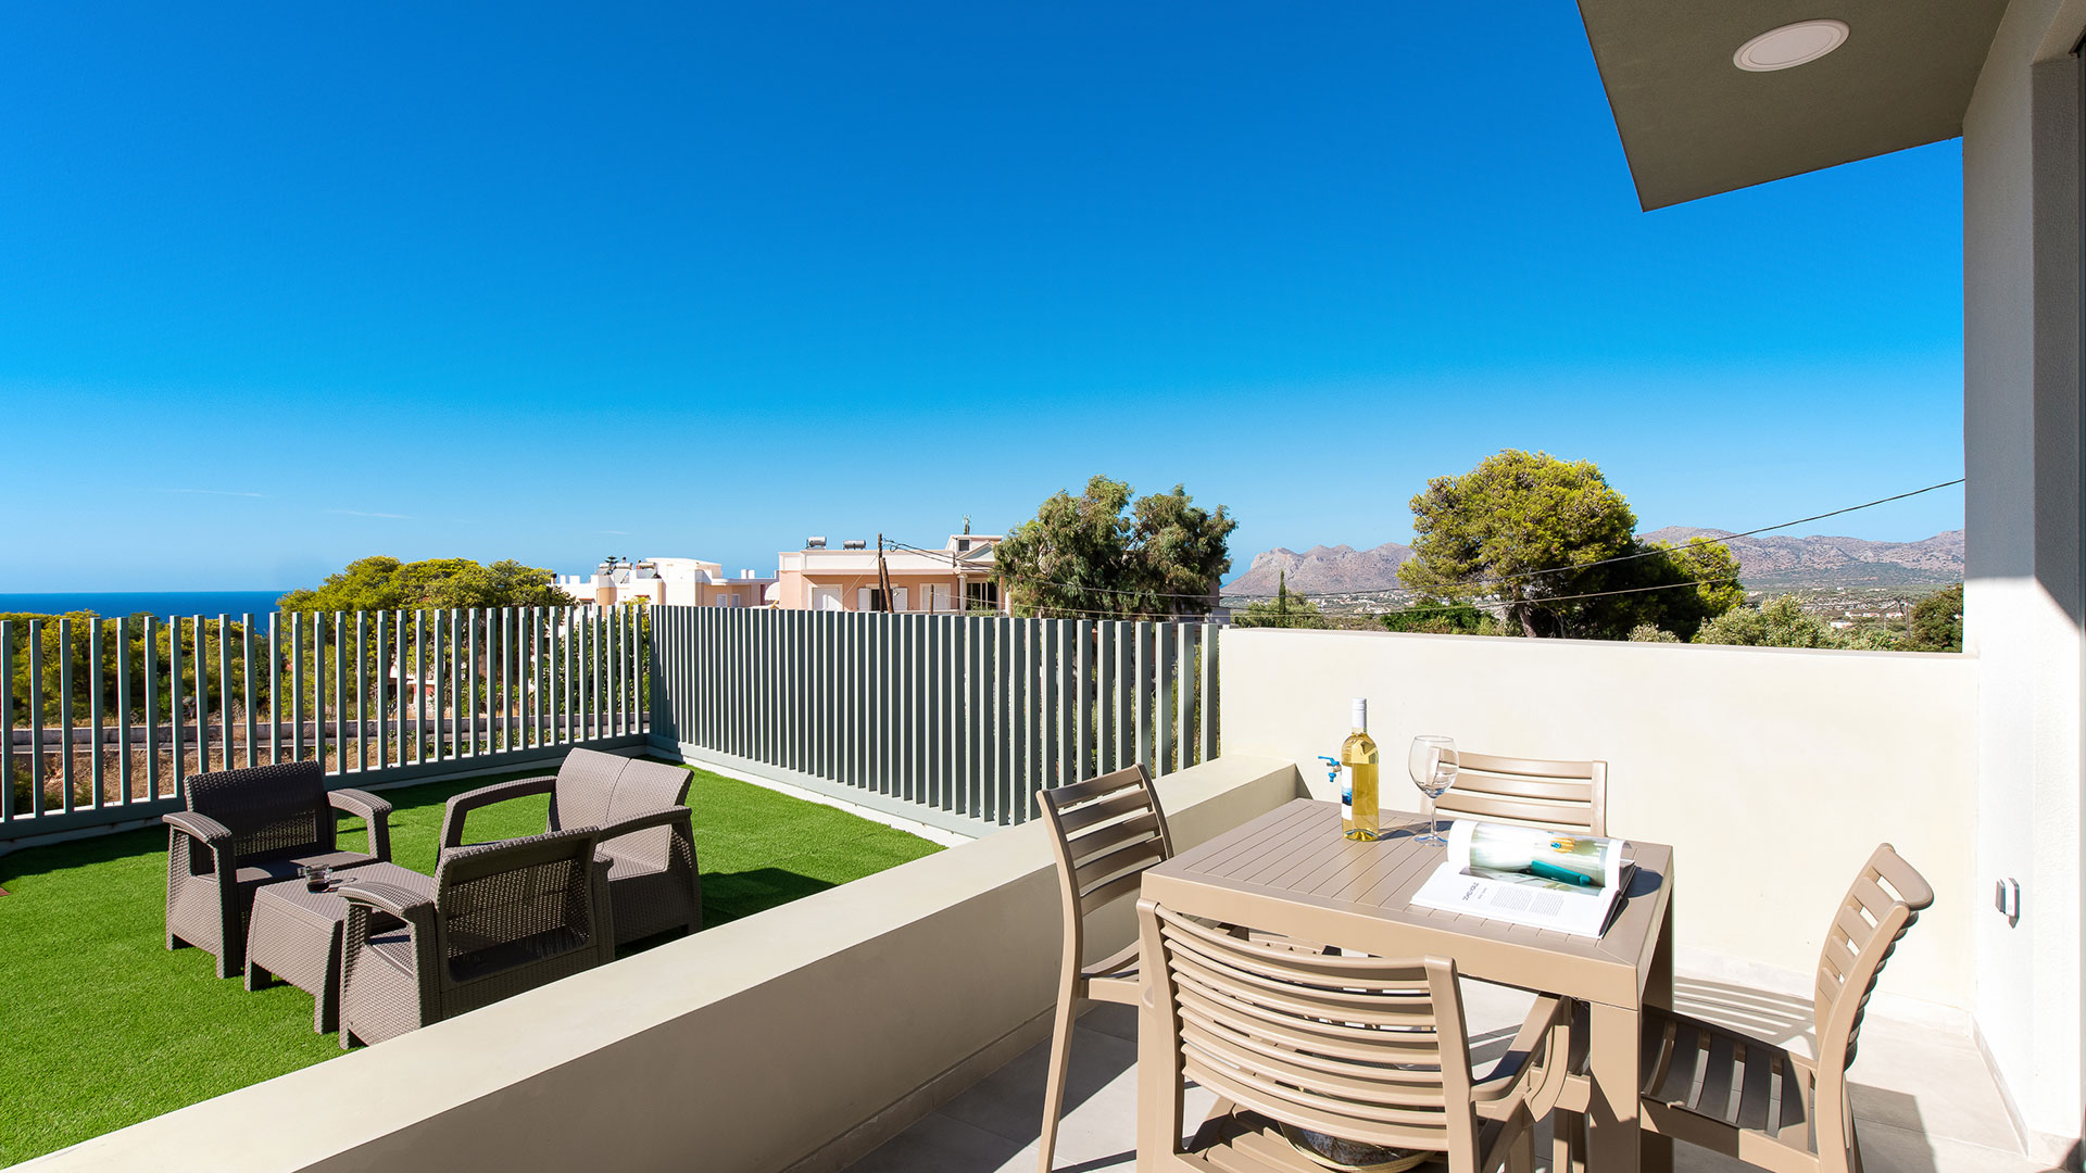
{"type": "Polygon", "coordinates": [[[1058,856],[1058,891],[1064,897],[1064,960],[1058,975],[1058,1016],[1049,1039],[1049,1083],[1043,1090],[1039,1167],[1049,1173],[1064,1112],[1064,1073],[1070,1060],[1072,1019],[1078,1002],[1137,1004],[1137,943],[1099,962],[1087,956],[1087,914],[1137,895],[1145,868],[1172,856],[1166,812],[1143,766],[1037,791],[1051,854],[1058,856]]]}

